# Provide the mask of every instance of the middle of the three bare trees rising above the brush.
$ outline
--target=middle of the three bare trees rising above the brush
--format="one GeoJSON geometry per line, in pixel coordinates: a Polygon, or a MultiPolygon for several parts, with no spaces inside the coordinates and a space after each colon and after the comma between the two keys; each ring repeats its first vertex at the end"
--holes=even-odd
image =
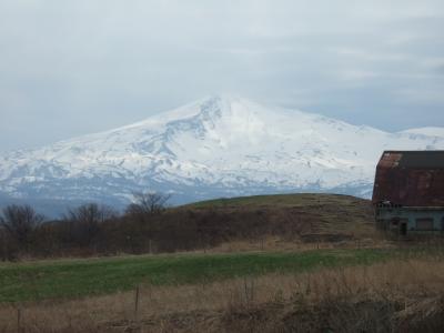
{"type": "Polygon", "coordinates": [[[64,220],[71,224],[72,240],[80,245],[90,245],[100,232],[100,224],[117,215],[118,213],[107,205],[87,203],[69,210],[64,220]]]}

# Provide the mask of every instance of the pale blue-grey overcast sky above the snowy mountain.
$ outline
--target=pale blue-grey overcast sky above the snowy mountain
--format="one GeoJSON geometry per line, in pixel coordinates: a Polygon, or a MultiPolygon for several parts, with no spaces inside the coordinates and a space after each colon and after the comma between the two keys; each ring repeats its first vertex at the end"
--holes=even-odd
{"type": "Polygon", "coordinates": [[[0,1],[0,152],[216,93],[444,127],[444,1],[0,1]]]}

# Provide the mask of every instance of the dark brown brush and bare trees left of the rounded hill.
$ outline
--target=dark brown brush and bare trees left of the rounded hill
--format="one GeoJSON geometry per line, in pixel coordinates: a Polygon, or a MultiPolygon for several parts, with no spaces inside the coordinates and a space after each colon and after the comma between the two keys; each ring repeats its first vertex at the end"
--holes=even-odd
{"type": "Polygon", "coordinates": [[[283,229],[285,223],[271,223],[262,211],[167,209],[169,199],[137,193],[123,213],[85,203],[53,221],[30,205],[8,205],[0,214],[0,260],[190,251],[233,239],[294,233],[283,229]]]}

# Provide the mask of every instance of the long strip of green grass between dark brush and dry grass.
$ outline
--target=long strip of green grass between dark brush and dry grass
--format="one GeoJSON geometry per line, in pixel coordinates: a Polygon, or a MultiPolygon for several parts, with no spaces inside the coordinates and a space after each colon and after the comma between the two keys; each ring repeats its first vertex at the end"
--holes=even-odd
{"type": "Polygon", "coordinates": [[[390,255],[386,250],[319,250],[4,264],[0,265],[0,303],[109,294],[143,283],[180,285],[272,272],[303,272],[321,266],[370,264],[390,255]]]}

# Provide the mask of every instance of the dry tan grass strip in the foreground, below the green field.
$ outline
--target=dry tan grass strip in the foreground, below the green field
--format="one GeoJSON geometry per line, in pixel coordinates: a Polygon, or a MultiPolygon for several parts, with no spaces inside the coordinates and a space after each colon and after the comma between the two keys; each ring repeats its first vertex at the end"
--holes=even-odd
{"type": "MultiPolygon", "coordinates": [[[[442,327],[444,262],[265,275],[0,307],[0,332],[427,332],[442,327]],[[441,321],[440,321],[441,319],[441,321]],[[427,326],[428,325],[428,326],[427,326]]],[[[432,331],[431,331],[432,332],[432,331]]]]}

